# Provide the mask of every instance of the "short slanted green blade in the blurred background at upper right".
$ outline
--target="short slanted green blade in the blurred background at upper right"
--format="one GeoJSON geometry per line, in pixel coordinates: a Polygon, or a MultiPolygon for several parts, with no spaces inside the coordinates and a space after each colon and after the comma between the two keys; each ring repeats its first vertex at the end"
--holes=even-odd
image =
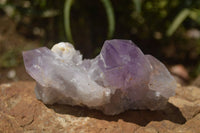
{"type": "Polygon", "coordinates": [[[180,24],[189,16],[190,10],[189,9],[183,9],[174,19],[172,24],[169,26],[166,34],[167,36],[171,36],[176,29],[180,26],[180,24]]]}

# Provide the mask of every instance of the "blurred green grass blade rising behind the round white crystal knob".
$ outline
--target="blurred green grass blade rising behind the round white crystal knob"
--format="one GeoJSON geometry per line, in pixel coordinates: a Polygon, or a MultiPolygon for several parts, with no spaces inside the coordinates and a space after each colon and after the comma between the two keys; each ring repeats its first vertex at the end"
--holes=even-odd
{"type": "Polygon", "coordinates": [[[64,26],[65,26],[65,32],[67,35],[67,40],[74,44],[71,28],[70,28],[70,9],[72,6],[73,0],[65,0],[64,4],[64,26]]]}

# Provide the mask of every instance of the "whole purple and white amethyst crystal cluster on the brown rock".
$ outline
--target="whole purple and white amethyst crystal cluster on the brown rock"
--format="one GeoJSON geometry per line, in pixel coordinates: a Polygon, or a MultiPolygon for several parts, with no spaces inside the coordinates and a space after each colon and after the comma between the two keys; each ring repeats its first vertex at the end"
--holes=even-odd
{"type": "Polygon", "coordinates": [[[87,106],[108,115],[128,109],[160,110],[175,93],[167,68],[130,40],[107,40],[94,59],[82,59],[70,43],[23,52],[45,104],[87,106]]]}

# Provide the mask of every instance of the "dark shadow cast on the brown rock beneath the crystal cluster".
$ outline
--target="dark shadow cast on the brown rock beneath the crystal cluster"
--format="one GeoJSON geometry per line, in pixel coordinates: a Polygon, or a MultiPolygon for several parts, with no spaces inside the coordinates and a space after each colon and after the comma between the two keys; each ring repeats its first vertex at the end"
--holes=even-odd
{"type": "Polygon", "coordinates": [[[128,110],[119,115],[114,116],[104,115],[98,110],[89,109],[87,107],[61,104],[46,106],[53,109],[56,113],[59,114],[70,114],[76,117],[91,117],[107,121],[118,121],[119,119],[122,119],[123,121],[135,123],[140,126],[146,126],[151,121],[162,120],[169,120],[178,124],[183,124],[186,122],[179,109],[170,103],[168,103],[167,108],[165,110],[128,110]]]}

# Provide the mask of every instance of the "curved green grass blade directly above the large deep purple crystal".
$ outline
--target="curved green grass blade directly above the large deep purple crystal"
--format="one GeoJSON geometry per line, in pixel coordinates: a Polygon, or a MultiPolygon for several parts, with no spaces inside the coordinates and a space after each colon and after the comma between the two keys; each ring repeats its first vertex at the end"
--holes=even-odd
{"type": "Polygon", "coordinates": [[[108,39],[112,38],[115,31],[115,15],[110,0],[101,0],[108,18],[108,39]]]}

